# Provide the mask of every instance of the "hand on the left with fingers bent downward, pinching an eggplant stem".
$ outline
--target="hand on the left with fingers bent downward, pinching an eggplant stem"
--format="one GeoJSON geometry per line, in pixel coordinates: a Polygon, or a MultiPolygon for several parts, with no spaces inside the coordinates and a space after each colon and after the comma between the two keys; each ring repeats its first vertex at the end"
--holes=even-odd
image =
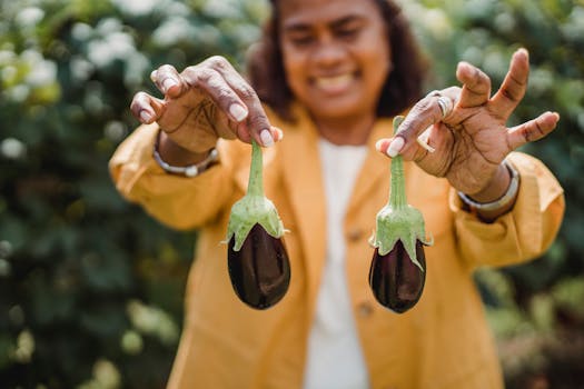
{"type": "Polygon", "coordinates": [[[210,57],[180,73],[164,64],[150,78],[165,98],[138,92],[130,109],[145,124],[156,121],[164,131],[162,139],[170,139],[174,148],[204,154],[218,138],[255,139],[265,147],[281,139],[256,91],[222,57],[210,57]]]}

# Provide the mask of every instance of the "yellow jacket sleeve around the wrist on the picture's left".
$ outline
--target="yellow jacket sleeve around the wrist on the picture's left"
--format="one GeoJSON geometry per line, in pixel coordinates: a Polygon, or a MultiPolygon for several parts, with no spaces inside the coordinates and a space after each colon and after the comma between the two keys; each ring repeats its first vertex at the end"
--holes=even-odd
{"type": "MultiPolygon", "coordinates": [[[[109,162],[118,191],[154,218],[175,229],[191,229],[217,217],[232,192],[225,152],[220,162],[200,176],[165,172],[152,157],[158,126],[140,126],[116,150],[109,162]]],[[[225,144],[221,144],[221,147],[225,144]]]]}

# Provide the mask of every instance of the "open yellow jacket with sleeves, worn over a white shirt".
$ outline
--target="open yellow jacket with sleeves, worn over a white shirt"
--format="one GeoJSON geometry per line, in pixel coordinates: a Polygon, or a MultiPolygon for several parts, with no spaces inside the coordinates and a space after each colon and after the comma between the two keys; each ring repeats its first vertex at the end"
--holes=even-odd
{"type": "MultiPolygon", "coordinates": [[[[110,170],[119,191],[161,222],[199,229],[186,290],[186,321],[169,388],[300,388],[319,278],[326,217],[318,134],[305,114],[271,122],[284,141],[264,150],[266,196],[278,208],[290,257],[291,281],[274,308],[256,311],[236,297],[227,272],[230,206],[247,187],[250,147],[219,141],[220,163],[197,178],[165,173],[154,161],[156,126],[137,129],[118,149],[110,170]]],[[[537,160],[513,153],[521,188],[512,212],[483,223],[461,210],[445,179],[405,163],[408,202],[418,208],[435,243],[426,248],[424,295],[404,315],[379,306],[367,276],[367,240],[387,202],[389,160],[375,141],[392,133],[379,120],[368,142],[345,218],[346,272],[372,388],[502,388],[494,342],[472,271],[540,256],[553,241],[564,211],[563,191],[537,160]]]]}

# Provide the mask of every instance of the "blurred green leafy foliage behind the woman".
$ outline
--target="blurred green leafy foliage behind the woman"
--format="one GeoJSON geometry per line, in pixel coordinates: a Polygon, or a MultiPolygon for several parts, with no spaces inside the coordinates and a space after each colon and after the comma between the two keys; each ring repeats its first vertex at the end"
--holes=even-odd
{"type": "MultiPolygon", "coordinates": [[[[567,212],[541,259],[477,273],[508,388],[584,386],[584,1],[403,1],[429,58],[428,90],[459,60],[502,81],[531,52],[513,118],[558,111],[526,148],[557,174],[567,212]],[[544,385],[544,386],[542,386],[544,385]]],[[[195,233],[120,199],[107,171],[137,124],[149,72],[216,53],[240,66],[258,0],[0,2],[0,382],[2,388],[159,388],[182,320],[195,233]]]]}

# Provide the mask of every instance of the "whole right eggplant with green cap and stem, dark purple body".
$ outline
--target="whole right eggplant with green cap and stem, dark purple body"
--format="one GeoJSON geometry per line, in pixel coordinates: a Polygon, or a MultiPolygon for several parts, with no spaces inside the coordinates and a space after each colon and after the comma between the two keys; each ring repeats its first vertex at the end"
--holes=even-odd
{"type": "MultiPolygon", "coordinates": [[[[394,132],[403,117],[394,119],[394,132]]],[[[426,280],[426,239],[424,217],[406,200],[404,162],[392,160],[389,201],[377,213],[376,231],[370,239],[375,247],[369,269],[369,287],[376,300],[397,313],[413,308],[422,297],[426,280]]]]}

